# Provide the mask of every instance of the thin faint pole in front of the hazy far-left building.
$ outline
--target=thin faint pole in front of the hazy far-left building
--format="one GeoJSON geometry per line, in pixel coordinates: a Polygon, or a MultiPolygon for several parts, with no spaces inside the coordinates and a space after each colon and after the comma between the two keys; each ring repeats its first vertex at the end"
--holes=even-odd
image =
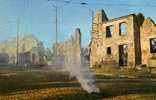
{"type": "Polygon", "coordinates": [[[17,36],[16,36],[16,66],[19,64],[19,26],[20,20],[17,19],[17,36]]]}

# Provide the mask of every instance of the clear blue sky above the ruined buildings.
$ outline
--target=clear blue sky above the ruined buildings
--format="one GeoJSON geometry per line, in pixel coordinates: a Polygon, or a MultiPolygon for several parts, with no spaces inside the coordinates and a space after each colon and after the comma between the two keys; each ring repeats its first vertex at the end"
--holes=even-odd
{"type": "Polygon", "coordinates": [[[33,34],[51,48],[55,42],[53,5],[58,7],[58,41],[67,40],[80,28],[82,46],[90,42],[92,11],[104,9],[109,19],[141,12],[156,21],[154,0],[0,0],[0,42],[16,37],[19,23],[20,36],[33,34]]]}

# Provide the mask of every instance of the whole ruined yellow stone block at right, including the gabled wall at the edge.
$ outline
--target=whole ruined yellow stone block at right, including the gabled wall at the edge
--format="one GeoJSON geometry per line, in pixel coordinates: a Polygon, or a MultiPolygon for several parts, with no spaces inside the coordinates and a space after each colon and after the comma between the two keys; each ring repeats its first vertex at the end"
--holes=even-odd
{"type": "Polygon", "coordinates": [[[92,23],[90,65],[152,65],[156,62],[156,25],[150,18],[130,14],[108,19],[98,10],[92,23]]]}

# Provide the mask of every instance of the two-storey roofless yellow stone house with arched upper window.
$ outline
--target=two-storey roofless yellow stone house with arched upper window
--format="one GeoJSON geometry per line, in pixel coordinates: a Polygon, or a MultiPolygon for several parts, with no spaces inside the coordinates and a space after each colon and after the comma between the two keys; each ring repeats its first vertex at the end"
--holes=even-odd
{"type": "Polygon", "coordinates": [[[91,66],[135,66],[141,63],[139,36],[135,14],[108,20],[103,10],[97,11],[90,45],[91,66]]]}

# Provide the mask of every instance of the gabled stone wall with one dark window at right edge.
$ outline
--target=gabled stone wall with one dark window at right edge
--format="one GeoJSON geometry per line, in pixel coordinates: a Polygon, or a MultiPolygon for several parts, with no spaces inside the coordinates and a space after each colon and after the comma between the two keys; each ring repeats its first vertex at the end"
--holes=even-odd
{"type": "Polygon", "coordinates": [[[152,19],[147,18],[140,31],[142,64],[156,67],[156,25],[152,19]]]}

